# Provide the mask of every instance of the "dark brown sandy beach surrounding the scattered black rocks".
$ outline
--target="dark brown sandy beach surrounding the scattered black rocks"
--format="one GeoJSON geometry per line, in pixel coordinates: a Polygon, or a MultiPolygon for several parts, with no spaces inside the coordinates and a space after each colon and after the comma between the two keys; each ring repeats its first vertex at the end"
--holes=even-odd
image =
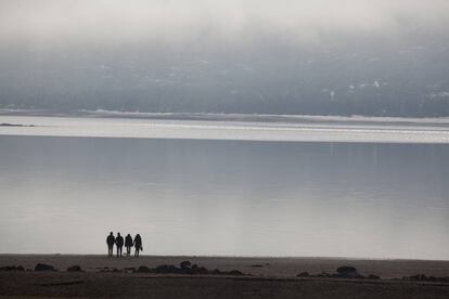
{"type": "Polygon", "coordinates": [[[0,268],[22,265],[25,271],[0,271],[0,296],[115,297],[115,298],[448,298],[449,283],[402,280],[425,274],[448,277],[449,261],[352,260],[332,258],[229,258],[1,255],[0,268]],[[179,265],[182,261],[245,275],[159,274],[131,269],[179,265]],[[56,271],[34,271],[37,263],[56,271]],[[82,272],[67,272],[79,265],[82,272]],[[351,265],[367,278],[315,277],[351,265]],[[308,272],[309,277],[297,277],[308,272]],[[381,280],[368,278],[370,274],[381,280]]]}

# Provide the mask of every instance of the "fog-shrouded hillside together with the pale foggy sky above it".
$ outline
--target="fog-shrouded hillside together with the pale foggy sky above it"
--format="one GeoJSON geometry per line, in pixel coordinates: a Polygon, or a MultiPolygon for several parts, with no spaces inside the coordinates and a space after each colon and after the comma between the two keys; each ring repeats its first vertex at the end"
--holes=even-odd
{"type": "Polygon", "coordinates": [[[0,0],[0,108],[449,116],[447,0],[0,0]]]}

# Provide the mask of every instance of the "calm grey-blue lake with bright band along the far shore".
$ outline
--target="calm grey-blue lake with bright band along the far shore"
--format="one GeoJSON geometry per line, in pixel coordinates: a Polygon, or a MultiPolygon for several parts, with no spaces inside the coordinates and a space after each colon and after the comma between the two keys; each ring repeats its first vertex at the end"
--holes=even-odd
{"type": "Polygon", "coordinates": [[[0,252],[449,259],[444,126],[1,122],[0,252]]]}

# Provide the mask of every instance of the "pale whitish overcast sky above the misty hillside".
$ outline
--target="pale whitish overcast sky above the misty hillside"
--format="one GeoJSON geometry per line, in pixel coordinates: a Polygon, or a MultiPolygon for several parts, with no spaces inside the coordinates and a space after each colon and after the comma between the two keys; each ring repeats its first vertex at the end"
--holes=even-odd
{"type": "Polygon", "coordinates": [[[447,30],[448,13],[447,0],[0,0],[0,40],[182,43],[258,32],[316,42],[329,31],[447,30]]]}

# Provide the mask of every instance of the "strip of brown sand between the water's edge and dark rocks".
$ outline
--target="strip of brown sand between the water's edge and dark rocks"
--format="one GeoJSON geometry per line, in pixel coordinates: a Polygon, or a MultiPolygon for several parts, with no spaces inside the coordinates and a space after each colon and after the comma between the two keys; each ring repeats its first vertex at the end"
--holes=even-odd
{"type": "Polygon", "coordinates": [[[295,277],[302,272],[320,274],[334,273],[338,266],[355,266],[362,275],[377,275],[382,278],[401,278],[416,274],[436,277],[449,276],[449,261],[411,259],[358,259],[330,257],[200,257],[200,256],[141,256],[108,258],[106,255],[17,255],[0,253],[0,266],[22,265],[31,270],[37,263],[51,264],[59,271],[79,265],[87,272],[102,268],[121,270],[141,265],[155,268],[162,264],[178,265],[182,261],[222,271],[238,270],[246,274],[270,277],[295,277]]]}

